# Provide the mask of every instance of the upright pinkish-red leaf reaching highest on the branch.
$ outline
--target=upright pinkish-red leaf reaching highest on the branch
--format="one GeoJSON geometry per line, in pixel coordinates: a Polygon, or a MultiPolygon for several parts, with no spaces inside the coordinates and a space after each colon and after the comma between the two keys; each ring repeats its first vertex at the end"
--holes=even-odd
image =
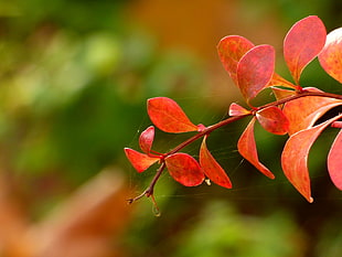
{"type": "Polygon", "coordinates": [[[321,52],[327,31],[318,17],[307,17],[292,25],[284,40],[284,57],[299,84],[302,69],[321,52]]]}

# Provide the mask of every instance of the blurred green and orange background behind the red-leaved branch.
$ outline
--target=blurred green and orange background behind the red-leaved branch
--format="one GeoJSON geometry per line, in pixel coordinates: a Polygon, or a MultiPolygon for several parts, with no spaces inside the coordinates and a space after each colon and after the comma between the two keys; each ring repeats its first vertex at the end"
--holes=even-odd
{"type": "MultiPolygon", "coordinates": [[[[312,204],[281,173],[286,138],[257,128],[270,181],[236,152],[247,120],[220,129],[209,148],[233,189],[184,188],[163,174],[149,199],[127,205],[154,168],[137,174],[124,147],[138,149],[150,124],[146,99],[175,99],[195,122],[244,105],[216,54],[239,34],[277,50],[298,20],[342,24],[340,0],[0,1],[0,256],[3,257],[338,257],[342,194],[325,158],[335,130],[310,154],[312,204]]],[[[317,61],[301,84],[341,94],[317,61]]],[[[269,97],[269,92],[265,94],[269,97]]],[[[269,99],[269,98],[268,98],[269,99]]],[[[189,135],[157,131],[164,151],[189,135]]],[[[199,144],[186,148],[196,156],[199,144]]]]}

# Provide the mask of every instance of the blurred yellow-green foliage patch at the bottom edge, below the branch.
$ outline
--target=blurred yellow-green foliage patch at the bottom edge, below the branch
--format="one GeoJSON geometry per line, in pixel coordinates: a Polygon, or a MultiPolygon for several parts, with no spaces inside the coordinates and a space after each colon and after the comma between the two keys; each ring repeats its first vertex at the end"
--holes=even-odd
{"type": "Polygon", "coordinates": [[[199,223],[181,235],[183,247],[175,256],[293,257],[302,253],[302,234],[281,211],[259,219],[213,201],[201,212],[199,223]]]}

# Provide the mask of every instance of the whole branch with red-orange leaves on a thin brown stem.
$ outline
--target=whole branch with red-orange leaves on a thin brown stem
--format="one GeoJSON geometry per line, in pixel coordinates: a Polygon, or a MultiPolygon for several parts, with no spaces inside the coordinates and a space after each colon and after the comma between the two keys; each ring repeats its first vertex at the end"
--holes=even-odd
{"type": "Polygon", "coordinates": [[[299,85],[303,68],[318,56],[323,69],[342,83],[342,28],[327,35],[322,21],[310,15],[298,21],[287,33],[284,41],[284,57],[293,83],[275,73],[275,49],[271,45],[254,45],[239,35],[222,39],[217,45],[218,55],[224,68],[238,86],[248,109],[233,103],[229,117],[209,127],[194,125],[172,99],[167,97],[150,98],[147,101],[148,115],[153,125],[164,132],[196,133],[165,153],[152,150],[154,127],[141,132],[139,146],[143,153],[125,148],[125,153],[138,172],[159,163],[159,169],[148,189],[132,203],[142,196],[151,197],[156,207],[153,189],[164,170],[179,183],[185,186],[200,185],[204,180],[231,189],[232,182],[220,163],[206,147],[206,140],[214,130],[239,119],[250,117],[243,131],[237,150],[257,170],[270,179],[274,173],[258,158],[254,127],[255,122],[275,135],[288,135],[289,138],[281,154],[281,168],[289,182],[308,201],[312,202],[308,154],[311,146],[328,127],[340,129],[328,154],[328,170],[334,185],[342,190],[342,114],[317,125],[328,110],[342,106],[342,96],[322,92],[314,87],[299,85]],[[253,100],[263,89],[271,88],[276,100],[263,106],[253,106],[253,100]],[[199,160],[181,152],[183,148],[202,139],[199,160]]]}

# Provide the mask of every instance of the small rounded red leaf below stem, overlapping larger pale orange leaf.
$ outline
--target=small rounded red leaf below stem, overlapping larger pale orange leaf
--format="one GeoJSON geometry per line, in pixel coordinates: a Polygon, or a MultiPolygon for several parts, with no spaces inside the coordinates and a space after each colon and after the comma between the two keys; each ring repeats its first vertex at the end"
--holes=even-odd
{"type": "Polygon", "coordinates": [[[275,135],[285,135],[288,131],[289,120],[276,106],[270,106],[257,111],[256,118],[263,128],[268,132],[275,135]]]}

